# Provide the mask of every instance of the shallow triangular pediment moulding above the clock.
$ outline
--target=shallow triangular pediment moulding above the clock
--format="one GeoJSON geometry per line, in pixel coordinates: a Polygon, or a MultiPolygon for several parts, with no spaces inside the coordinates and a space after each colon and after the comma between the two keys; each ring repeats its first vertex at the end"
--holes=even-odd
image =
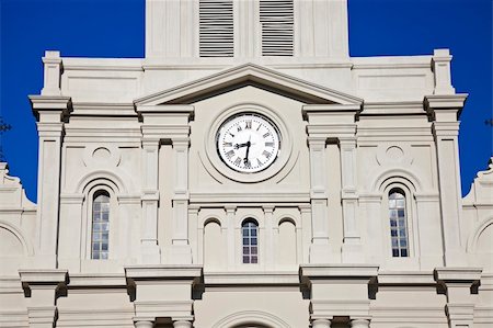
{"type": "Polygon", "coordinates": [[[278,71],[245,64],[137,99],[136,105],[188,104],[198,99],[253,84],[317,104],[362,104],[363,100],[278,71]]]}

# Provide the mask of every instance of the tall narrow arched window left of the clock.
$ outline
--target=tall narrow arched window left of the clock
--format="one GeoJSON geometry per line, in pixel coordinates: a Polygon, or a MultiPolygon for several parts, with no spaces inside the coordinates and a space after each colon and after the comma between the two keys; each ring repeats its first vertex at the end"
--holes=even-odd
{"type": "Polygon", "coordinates": [[[94,193],[91,236],[91,259],[106,260],[110,241],[110,194],[106,191],[94,193]]]}

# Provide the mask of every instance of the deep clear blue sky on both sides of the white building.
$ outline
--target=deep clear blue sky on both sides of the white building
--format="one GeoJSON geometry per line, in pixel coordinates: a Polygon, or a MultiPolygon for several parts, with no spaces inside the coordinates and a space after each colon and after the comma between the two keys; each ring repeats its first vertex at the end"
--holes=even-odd
{"type": "MultiPolygon", "coordinates": [[[[452,82],[468,92],[459,135],[462,194],[492,156],[492,1],[348,0],[352,56],[450,48],[452,82]]],[[[10,174],[36,200],[37,133],[27,94],[43,87],[46,49],[66,57],[144,57],[144,0],[0,0],[1,139],[10,174]]]]}

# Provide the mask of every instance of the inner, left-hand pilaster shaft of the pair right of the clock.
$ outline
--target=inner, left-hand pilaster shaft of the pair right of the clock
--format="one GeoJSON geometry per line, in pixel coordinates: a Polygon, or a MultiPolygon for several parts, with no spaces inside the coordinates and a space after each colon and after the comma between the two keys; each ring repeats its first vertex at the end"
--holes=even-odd
{"type": "Polygon", "coordinates": [[[310,263],[331,262],[329,245],[329,218],[326,214],[325,192],[325,137],[308,137],[310,150],[310,200],[312,240],[310,246],[310,263]]]}

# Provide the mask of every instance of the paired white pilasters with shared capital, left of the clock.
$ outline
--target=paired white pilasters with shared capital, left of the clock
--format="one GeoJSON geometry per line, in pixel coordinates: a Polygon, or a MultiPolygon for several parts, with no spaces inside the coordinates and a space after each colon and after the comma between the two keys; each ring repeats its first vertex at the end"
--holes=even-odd
{"type": "MultiPolygon", "coordinates": [[[[142,182],[141,237],[144,263],[160,263],[158,245],[159,196],[159,149],[163,143],[173,147],[172,159],[173,193],[171,246],[167,250],[168,263],[192,263],[192,248],[188,241],[188,147],[190,120],[194,109],[191,105],[141,105],[137,113],[142,116],[142,154],[145,176],[142,182]]],[[[161,172],[163,173],[163,172],[161,172]]]]}

